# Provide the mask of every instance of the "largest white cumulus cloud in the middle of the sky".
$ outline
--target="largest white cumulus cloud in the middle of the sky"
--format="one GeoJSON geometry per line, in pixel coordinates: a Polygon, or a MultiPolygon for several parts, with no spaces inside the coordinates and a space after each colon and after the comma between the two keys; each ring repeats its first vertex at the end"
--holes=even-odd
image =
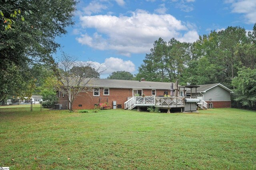
{"type": "Polygon", "coordinates": [[[174,37],[182,42],[194,42],[198,38],[196,31],[188,31],[188,27],[174,16],[150,14],[144,10],[131,12],[131,16],[81,16],[80,21],[83,29],[96,30],[93,34],[80,34],[76,38],[80,44],[98,50],[116,50],[125,56],[149,52],[159,37],[166,41],[174,37]]]}

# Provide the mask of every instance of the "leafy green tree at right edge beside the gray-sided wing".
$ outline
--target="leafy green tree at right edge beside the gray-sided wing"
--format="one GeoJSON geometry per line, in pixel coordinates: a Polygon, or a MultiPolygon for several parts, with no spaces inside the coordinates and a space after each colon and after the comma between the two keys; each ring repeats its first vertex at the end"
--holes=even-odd
{"type": "Polygon", "coordinates": [[[232,80],[235,87],[235,100],[242,106],[249,106],[256,110],[256,69],[241,68],[238,76],[232,80]]]}

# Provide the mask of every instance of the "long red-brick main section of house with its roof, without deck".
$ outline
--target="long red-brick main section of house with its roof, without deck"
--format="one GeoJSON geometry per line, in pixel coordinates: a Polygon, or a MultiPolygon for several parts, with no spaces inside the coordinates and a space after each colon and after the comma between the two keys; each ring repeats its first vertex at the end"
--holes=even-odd
{"type": "MultiPolygon", "coordinates": [[[[132,96],[164,96],[170,94],[170,82],[148,82],[142,80],[112,80],[93,78],[88,82],[88,91],[82,92],[73,102],[73,109],[93,109],[98,103],[116,101],[124,109],[124,103],[132,96]]],[[[60,101],[68,100],[60,90],[57,92],[60,101]]],[[[59,102],[61,104],[61,102],[59,102]]],[[[65,105],[64,103],[62,104],[65,105]]]]}

